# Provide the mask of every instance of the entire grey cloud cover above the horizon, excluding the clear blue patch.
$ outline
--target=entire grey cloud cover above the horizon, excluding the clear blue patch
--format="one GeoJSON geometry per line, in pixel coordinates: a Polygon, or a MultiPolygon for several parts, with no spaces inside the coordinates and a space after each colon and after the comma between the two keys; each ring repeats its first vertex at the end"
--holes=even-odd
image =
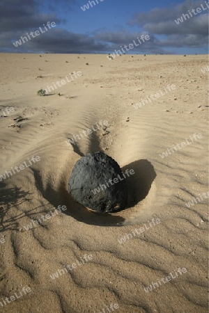
{"type": "Polygon", "coordinates": [[[51,0],[48,4],[49,14],[42,13],[41,0],[0,0],[0,51],[51,53],[107,53],[129,45],[142,34],[149,35],[150,40],[134,47],[130,52],[165,54],[169,48],[199,48],[208,44],[208,10],[195,15],[183,23],[176,24],[188,10],[206,7],[203,0],[186,0],[172,8],[153,8],[147,13],[137,13],[127,22],[139,26],[139,32],[123,29],[112,31],[100,29],[94,33],[72,33],[66,29],[65,20],[58,17],[59,10],[71,10],[77,0],[51,0]],[[56,27],[31,38],[28,42],[15,47],[13,42],[20,40],[30,31],[36,31],[47,22],[55,22],[56,27]]]}

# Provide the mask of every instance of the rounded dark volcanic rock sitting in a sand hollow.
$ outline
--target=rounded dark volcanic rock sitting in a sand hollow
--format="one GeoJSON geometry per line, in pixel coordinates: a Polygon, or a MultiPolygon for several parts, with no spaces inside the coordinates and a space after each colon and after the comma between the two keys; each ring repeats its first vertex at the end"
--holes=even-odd
{"type": "Polygon", "coordinates": [[[75,163],[68,192],[80,204],[100,213],[123,209],[127,199],[127,186],[120,166],[102,152],[88,153],[75,163]]]}

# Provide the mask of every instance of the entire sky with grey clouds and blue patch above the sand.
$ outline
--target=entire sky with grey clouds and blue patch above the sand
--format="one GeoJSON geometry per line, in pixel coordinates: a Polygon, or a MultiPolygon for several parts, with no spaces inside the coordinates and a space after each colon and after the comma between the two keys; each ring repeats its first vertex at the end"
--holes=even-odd
{"type": "Polygon", "coordinates": [[[127,54],[208,54],[208,1],[94,2],[91,7],[87,0],[0,0],[0,51],[107,54],[149,35],[127,54]],[[177,24],[188,11],[190,17],[177,24]],[[46,31],[47,22],[56,26],[46,31]],[[22,42],[21,36],[40,27],[45,33],[22,42]],[[17,40],[21,45],[15,47],[17,40]]]}

